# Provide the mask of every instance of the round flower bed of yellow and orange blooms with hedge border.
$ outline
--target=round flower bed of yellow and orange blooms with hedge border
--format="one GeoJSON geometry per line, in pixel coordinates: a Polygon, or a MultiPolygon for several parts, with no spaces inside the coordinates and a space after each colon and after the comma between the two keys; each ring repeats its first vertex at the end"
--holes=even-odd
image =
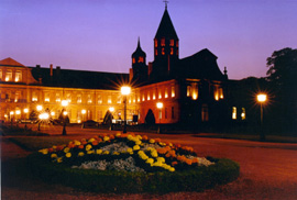
{"type": "Polygon", "coordinates": [[[201,191],[239,176],[230,159],[131,134],[70,141],[32,154],[28,164],[46,181],[100,192],[201,191]]]}

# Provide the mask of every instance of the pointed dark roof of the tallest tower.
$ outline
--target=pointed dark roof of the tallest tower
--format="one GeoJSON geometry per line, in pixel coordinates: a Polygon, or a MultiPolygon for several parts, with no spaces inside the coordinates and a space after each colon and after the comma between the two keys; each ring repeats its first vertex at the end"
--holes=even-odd
{"type": "Polygon", "coordinates": [[[178,40],[178,36],[175,32],[173,22],[170,20],[167,8],[165,8],[164,14],[162,16],[161,23],[158,25],[155,38],[169,37],[178,40]]]}

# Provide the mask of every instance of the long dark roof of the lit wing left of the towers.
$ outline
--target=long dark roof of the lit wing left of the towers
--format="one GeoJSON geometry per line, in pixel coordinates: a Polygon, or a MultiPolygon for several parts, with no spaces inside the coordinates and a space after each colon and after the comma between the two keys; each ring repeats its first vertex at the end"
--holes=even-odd
{"type": "Polygon", "coordinates": [[[119,89],[124,82],[129,82],[129,74],[98,73],[86,70],[53,69],[33,67],[32,75],[42,85],[48,87],[84,88],[84,89],[119,89]]]}

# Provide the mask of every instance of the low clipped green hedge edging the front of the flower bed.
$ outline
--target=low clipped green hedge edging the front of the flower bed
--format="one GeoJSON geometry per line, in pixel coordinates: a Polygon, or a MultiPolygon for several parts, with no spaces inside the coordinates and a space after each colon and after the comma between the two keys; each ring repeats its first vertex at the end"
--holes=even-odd
{"type": "Polygon", "coordinates": [[[208,159],[216,164],[183,171],[146,174],[74,169],[52,163],[37,153],[28,156],[28,165],[33,175],[44,181],[96,192],[202,191],[239,177],[240,166],[235,162],[226,158],[208,159]]]}

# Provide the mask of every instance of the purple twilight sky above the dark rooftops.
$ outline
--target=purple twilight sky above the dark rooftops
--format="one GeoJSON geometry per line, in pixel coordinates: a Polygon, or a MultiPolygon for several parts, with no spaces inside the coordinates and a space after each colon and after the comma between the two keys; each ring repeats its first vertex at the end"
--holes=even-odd
{"type": "MultiPolygon", "coordinates": [[[[140,36],[146,62],[163,0],[0,0],[0,59],[129,73],[140,36]]],[[[179,57],[208,48],[230,79],[266,76],[266,58],[297,48],[297,0],[169,0],[179,57]]]]}

